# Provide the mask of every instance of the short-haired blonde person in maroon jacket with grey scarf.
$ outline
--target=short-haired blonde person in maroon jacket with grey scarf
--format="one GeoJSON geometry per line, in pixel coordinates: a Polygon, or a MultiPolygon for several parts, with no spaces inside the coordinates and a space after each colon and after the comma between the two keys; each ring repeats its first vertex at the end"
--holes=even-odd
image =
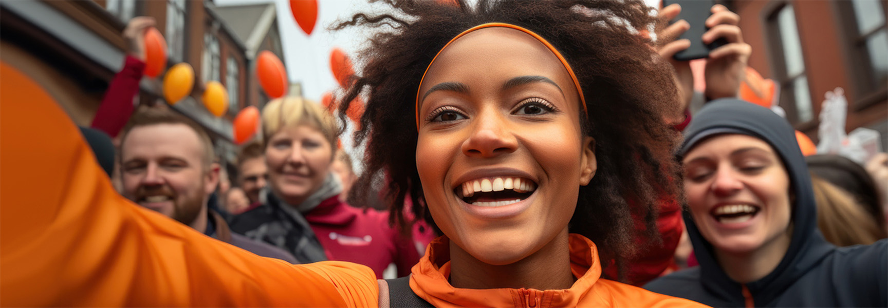
{"type": "Polygon", "coordinates": [[[389,213],[357,209],[340,200],[342,183],[330,169],[337,123],[301,98],[275,99],[262,110],[268,167],[264,205],[231,220],[231,228],[286,249],[300,261],[367,265],[377,278],[389,265],[410,273],[419,252],[409,233],[389,225],[389,213]]]}

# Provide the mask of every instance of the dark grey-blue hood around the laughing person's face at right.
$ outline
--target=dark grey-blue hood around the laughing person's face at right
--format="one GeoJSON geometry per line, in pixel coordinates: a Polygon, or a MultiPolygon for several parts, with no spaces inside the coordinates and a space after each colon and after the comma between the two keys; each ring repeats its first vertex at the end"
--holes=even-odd
{"type": "MultiPolygon", "coordinates": [[[[817,228],[817,207],[811,176],[805,156],[798,147],[795,130],[789,122],[765,107],[739,99],[718,99],[694,116],[694,121],[685,130],[685,143],[679,155],[683,156],[703,139],[721,134],[743,134],[768,143],[781,158],[789,175],[790,189],[795,193],[790,217],[793,233],[786,255],[772,272],[746,284],[755,304],[765,305],[781,296],[783,290],[816,266],[835,247],[823,239],[817,228]]],[[[685,212],[684,215],[694,254],[700,262],[703,288],[727,302],[739,301],[742,305],[741,284],[731,280],[722,270],[710,242],[702,237],[690,214],[685,212]]]]}

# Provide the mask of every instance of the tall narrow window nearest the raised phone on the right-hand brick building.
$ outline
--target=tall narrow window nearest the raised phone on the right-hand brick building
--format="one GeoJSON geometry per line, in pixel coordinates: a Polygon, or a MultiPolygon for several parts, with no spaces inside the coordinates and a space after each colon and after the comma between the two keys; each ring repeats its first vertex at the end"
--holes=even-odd
{"type": "Polygon", "coordinates": [[[780,106],[792,123],[814,119],[805,58],[792,4],[778,6],[767,18],[774,77],[780,83],[780,106]]]}

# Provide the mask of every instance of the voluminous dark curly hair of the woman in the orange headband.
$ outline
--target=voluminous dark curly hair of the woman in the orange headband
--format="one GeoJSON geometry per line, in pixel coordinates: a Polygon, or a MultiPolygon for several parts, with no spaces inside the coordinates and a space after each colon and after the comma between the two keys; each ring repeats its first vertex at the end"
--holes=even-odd
{"type": "Polygon", "coordinates": [[[370,38],[357,61],[362,74],[337,99],[345,120],[349,102],[367,98],[363,130],[355,132],[358,144],[369,141],[365,169],[350,201],[360,204],[378,191],[375,186],[386,183],[391,223],[406,228],[412,221],[405,217],[424,217],[433,225],[416,171],[414,109],[420,78],[444,44],[464,30],[488,22],[518,25],[554,45],[583,87],[589,115],[581,120],[585,134],[595,138],[598,171],[588,186],[580,187],[569,231],[594,241],[602,265],[618,265],[622,277],[622,262],[643,244],[633,235],[659,239],[658,200],[681,201],[672,156],[678,133],[665,123],[678,110],[678,90],[670,64],[644,35],[662,29],[653,9],[635,0],[384,2],[392,13],[358,13],[332,27],[391,28],[370,38]],[[414,206],[405,216],[408,198],[414,206]],[[643,217],[645,225],[636,228],[632,216],[643,217]]]}

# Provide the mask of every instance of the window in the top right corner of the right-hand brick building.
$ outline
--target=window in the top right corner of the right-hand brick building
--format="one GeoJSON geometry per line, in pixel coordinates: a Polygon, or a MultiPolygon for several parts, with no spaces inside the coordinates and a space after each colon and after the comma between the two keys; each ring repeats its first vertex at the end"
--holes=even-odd
{"type": "Polygon", "coordinates": [[[885,27],[884,3],[852,0],[838,1],[836,4],[850,46],[848,54],[856,97],[858,100],[868,99],[881,91],[881,98],[868,100],[884,100],[885,88],[888,88],[888,29],[885,27]]]}

